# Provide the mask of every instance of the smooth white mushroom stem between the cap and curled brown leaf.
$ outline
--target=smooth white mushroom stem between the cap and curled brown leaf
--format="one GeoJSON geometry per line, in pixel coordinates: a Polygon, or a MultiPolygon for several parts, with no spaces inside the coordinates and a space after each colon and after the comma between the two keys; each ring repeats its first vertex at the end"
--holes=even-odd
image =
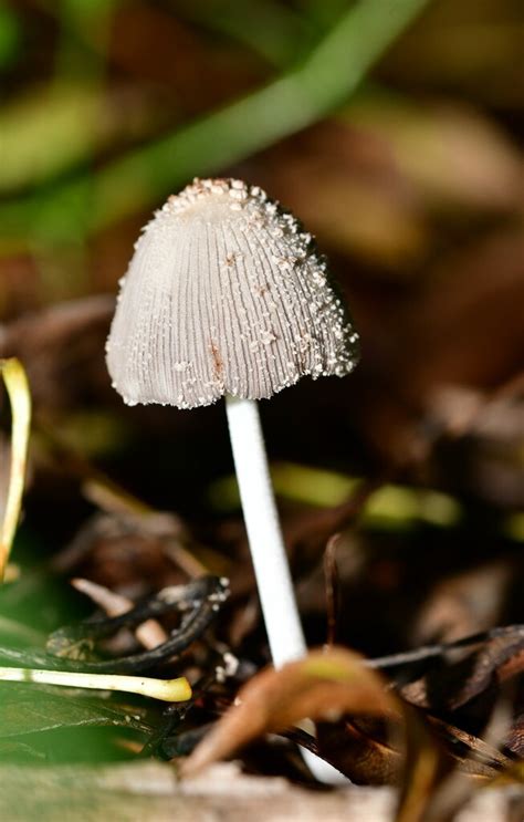
{"type": "Polygon", "coordinates": [[[265,629],[275,667],[300,659],[306,644],[271,485],[259,406],[226,397],[240,499],[265,629]]]}

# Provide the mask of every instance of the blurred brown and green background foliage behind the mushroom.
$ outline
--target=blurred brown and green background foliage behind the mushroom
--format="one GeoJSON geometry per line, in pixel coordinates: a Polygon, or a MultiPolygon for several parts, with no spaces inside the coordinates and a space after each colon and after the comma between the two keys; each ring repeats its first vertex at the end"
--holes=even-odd
{"type": "MultiPolygon", "coordinates": [[[[19,556],[125,508],[111,477],[180,514],[234,590],[221,408],[124,408],[104,366],[140,226],[192,176],[234,175],[317,235],[361,334],[354,376],[262,406],[313,637],[335,531],[340,638],[368,653],[523,621],[523,33],[521,0],[0,4],[0,354],[35,406],[19,556]]],[[[178,579],[143,535],[96,534],[78,556],[98,581],[178,579]]]]}

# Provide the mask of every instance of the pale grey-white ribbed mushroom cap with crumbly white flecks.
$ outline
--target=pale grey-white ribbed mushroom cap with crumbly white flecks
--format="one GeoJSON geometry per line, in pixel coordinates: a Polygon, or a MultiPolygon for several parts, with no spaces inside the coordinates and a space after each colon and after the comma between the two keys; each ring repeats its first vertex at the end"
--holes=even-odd
{"type": "Polygon", "coordinates": [[[107,340],[128,405],[271,397],[344,376],[358,336],[311,235],[258,186],[196,179],[145,227],[107,340]]]}

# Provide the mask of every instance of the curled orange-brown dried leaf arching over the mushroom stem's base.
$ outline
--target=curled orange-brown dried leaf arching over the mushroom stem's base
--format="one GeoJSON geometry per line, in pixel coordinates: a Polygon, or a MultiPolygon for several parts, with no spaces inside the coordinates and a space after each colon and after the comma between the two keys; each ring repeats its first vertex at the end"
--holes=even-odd
{"type": "MultiPolygon", "coordinates": [[[[261,733],[283,730],[304,717],[334,720],[346,712],[398,725],[404,715],[407,745],[396,820],[418,822],[434,785],[447,773],[440,748],[419,715],[402,706],[359,656],[342,648],[314,651],[300,662],[280,670],[268,668],[254,677],[240,691],[239,705],[200,742],[181,772],[192,776],[261,733]]],[[[380,783],[398,776],[399,753],[374,739],[365,725],[359,731],[352,722],[345,730],[347,749],[339,738],[338,752],[324,735],[321,750],[326,759],[361,781],[380,783]]]]}

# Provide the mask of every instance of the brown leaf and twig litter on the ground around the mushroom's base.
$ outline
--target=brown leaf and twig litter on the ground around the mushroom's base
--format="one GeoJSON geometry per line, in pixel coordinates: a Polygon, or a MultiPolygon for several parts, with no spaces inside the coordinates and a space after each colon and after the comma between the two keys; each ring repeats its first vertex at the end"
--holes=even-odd
{"type": "MultiPolygon", "coordinates": [[[[81,476],[93,476],[88,462],[81,462],[80,468],[74,460],[73,464],[81,476]]],[[[103,479],[101,487],[104,488],[103,479]]],[[[318,511],[318,533],[334,524],[347,528],[356,522],[369,497],[380,487],[379,482],[360,487],[338,511],[318,511]]],[[[191,551],[191,545],[197,545],[198,541],[176,519],[168,517],[161,524],[161,514],[149,512],[147,507],[144,512],[139,512],[140,506],[129,507],[117,487],[111,495],[109,512],[87,522],[63,556],[52,558],[45,573],[88,569],[95,578],[108,579],[109,574],[109,579],[118,580],[118,566],[127,561],[129,539],[138,537],[146,550],[158,539],[160,544],[166,538],[175,543],[181,540],[182,556],[188,548],[191,551]],[[113,507],[115,512],[111,512],[113,507]],[[104,552],[104,545],[114,540],[120,540],[122,559],[116,566],[105,569],[101,561],[105,563],[111,554],[104,552]]],[[[120,698],[104,695],[101,699],[86,699],[80,691],[65,696],[50,686],[34,700],[24,696],[24,686],[17,686],[8,696],[7,689],[12,686],[2,684],[7,698],[0,709],[0,739],[4,740],[0,756],[12,756],[13,749],[6,748],[8,740],[18,746],[15,756],[31,759],[39,756],[34,740],[40,735],[44,738],[67,727],[119,728],[135,736],[143,756],[175,761],[181,757],[184,762],[189,755],[181,767],[187,777],[218,759],[242,756],[243,750],[249,753],[250,746],[263,739],[271,750],[280,738],[287,740],[290,778],[305,779],[293,746],[290,747],[298,741],[358,784],[398,784],[397,819],[406,822],[421,818],[422,812],[432,812],[432,803],[442,797],[442,785],[451,779],[462,787],[449,813],[463,802],[463,783],[468,792],[470,784],[479,780],[485,784],[496,784],[501,779],[520,781],[523,715],[518,688],[509,685],[518,680],[524,665],[523,626],[490,628],[452,642],[368,659],[337,648],[333,642],[339,628],[342,591],[347,583],[340,579],[338,568],[344,551],[344,539],[338,535],[328,541],[324,552],[332,647],[312,652],[305,660],[283,670],[270,668],[253,676],[255,667],[250,655],[239,655],[228,639],[228,635],[234,636],[234,623],[241,617],[245,596],[245,585],[238,584],[238,569],[231,568],[228,603],[226,579],[199,576],[197,569],[193,581],[179,582],[185,572],[177,569],[177,552],[166,565],[164,550],[160,548],[151,568],[165,579],[161,569],[170,562],[170,575],[177,584],[148,594],[143,591],[134,603],[90,580],[76,582],[75,586],[105,615],[98,612],[55,629],[43,649],[0,646],[0,660],[71,672],[153,672],[161,676],[188,672],[193,680],[192,698],[167,710],[148,709],[145,714],[139,701],[126,706],[120,698]],[[224,606],[232,616],[229,629],[220,624],[224,606]],[[157,641],[144,642],[139,632],[150,621],[156,633],[160,633],[157,641]],[[210,629],[221,638],[208,636],[210,629]],[[501,705],[511,712],[511,721],[503,736],[486,742],[483,733],[501,705]],[[221,718],[217,721],[217,717],[221,718]],[[316,721],[316,737],[296,729],[304,718],[316,721]],[[25,748],[24,737],[31,739],[25,748]]],[[[212,565],[212,553],[210,556],[212,565]]],[[[138,569],[133,573],[137,572],[138,569]]]]}

